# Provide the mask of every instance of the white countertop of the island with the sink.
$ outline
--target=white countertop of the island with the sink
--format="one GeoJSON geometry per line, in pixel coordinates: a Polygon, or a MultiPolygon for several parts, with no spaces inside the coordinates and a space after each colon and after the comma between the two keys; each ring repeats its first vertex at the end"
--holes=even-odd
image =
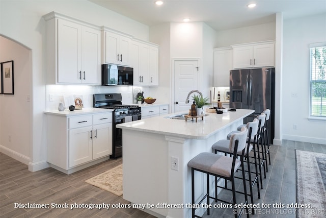
{"type": "Polygon", "coordinates": [[[184,138],[204,139],[208,138],[216,131],[228,127],[233,122],[238,121],[239,119],[243,119],[253,112],[254,110],[245,109],[236,109],[236,111],[230,111],[223,114],[206,112],[208,116],[205,116],[204,120],[198,118],[197,123],[195,122],[195,119],[188,119],[188,121],[185,122],[184,119],[165,118],[173,115],[187,113],[184,111],[137,120],[124,124],[118,124],[116,127],[121,129],[151,132],[184,138]]]}

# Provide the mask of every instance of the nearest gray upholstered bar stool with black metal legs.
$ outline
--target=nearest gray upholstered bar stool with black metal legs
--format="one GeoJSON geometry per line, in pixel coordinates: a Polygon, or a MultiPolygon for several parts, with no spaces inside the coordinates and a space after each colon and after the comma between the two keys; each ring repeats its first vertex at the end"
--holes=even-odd
{"type": "MultiPolygon", "coordinates": [[[[242,178],[243,178],[243,190],[244,190],[244,201],[243,204],[248,203],[247,188],[246,188],[246,177],[244,175],[244,167],[241,164],[243,161],[244,148],[246,147],[248,129],[243,127],[239,133],[235,133],[230,138],[229,151],[233,154],[233,157],[227,157],[213,153],[200,153],[188,162],[188,166],[192,169],[192,204],[195,205],[195,171],[206,174],[206,185],[207,190],[205,196],[200,200],[198,204],[201,204],[205,199],[207,204],[210,204],[210,199],[214,199],[215,202],[221,201],[226,204],[230,202],[218,199],[218,187],[215,185],[215,197],[209,196],[209,175],[215,177],[215,184],[217,177],[231,181],[232,184],[232,196],[233,205],[236,204],[235,198],[235,184],[234,184],[234,173],[242,165],[242,178]],[[240,160],[237,159],[237,153],[240,152],[240,160]]],[[[230,189],[228,189],[230,190],[230,189]]],[[[248,208],[247,217],[249,217],[248,208]]],[[[192,208],[192,217],[201,217],[195,214],[196,208],[192,208]]],[[[209,215],[209,208],[207,208],[207,215],[209,215]]],[[[237,213],[234,213],[234,217],[238,217],[237,213]]]]}

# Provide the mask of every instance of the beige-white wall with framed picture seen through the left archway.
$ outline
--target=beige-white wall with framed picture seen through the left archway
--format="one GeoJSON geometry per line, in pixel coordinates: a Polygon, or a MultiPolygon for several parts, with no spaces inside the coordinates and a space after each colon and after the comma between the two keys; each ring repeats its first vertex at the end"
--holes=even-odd
{"type": "Polygon", "coordinates": [[[0,151],[28,164],[31,144],[31,51],[0,35],[0,62],[14,61],[14,95],[0,94],[0,151]],[[9,139],[9,135],[10,138],[9,139]]]}

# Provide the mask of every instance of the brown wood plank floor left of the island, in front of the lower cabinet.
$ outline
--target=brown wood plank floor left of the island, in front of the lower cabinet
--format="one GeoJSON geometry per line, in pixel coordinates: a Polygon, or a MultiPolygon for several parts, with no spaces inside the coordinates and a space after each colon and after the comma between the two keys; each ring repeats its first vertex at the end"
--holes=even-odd
{"type": "Polygon", "coordinates": [[[129,204],[85,180],[122,163],[112,159],[66,175],[53,168],[30,172],[28,166],[0,153],[0,217],[154,217],[139,209],[67,209],[55,204],[129,204]],[[50,208],[14,208],[15,203],[50,204],[50,208]]]}

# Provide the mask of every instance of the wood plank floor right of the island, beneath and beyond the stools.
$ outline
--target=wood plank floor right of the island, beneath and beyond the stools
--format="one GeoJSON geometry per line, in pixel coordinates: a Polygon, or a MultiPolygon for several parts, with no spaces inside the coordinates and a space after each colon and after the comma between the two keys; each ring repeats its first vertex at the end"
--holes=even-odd
{"type": "MultiPolygon", "coordinates": [[[[295,218],[295,209],[291,208],[273,208],[273,204],[291,204],[295,203],[295,150],[304,150],[312,152],[326,153],[325,144],[315,144],[300,141],[283,140],[282,146],[270,146],[270,158],[271,164],[268,165],[268,172],[266,173],[266,179],[263,179],[263,189],[260,189],[260,199],[258,199],[256,186],[253,189],[254,192],[254,204],[265,203],[271,205],[270,208],[261,208],[255,210],[255,214],[250,214],[250,217],[262,218],[262,217],[290,217],[295,218]]],[[[238,180],[239,181],[239,180],[238,180]]],[[[241,182],[237,183],[237,190],[243,190],[241,182]]],[[[248,189],[248,188],[247,188],[248,189]]],[[[228,199],[232,202],[232,192],[221,191],[222,198],[228,199]]],[[[243,196],[237,195],[237,199],[240,199],[237,203],[241,202],[243,196]]],[[[249,200],[249,203],[250,200],[249,200]]],[[[204,215],[208,217],[234,217],[233,209],[214,209],[210,215],[204,215]]],[[[205,213],[206,214],[206,213],[205,213]]],[[[241,217],[247,217],[246,214],[242,214],[241,217]]]]}

